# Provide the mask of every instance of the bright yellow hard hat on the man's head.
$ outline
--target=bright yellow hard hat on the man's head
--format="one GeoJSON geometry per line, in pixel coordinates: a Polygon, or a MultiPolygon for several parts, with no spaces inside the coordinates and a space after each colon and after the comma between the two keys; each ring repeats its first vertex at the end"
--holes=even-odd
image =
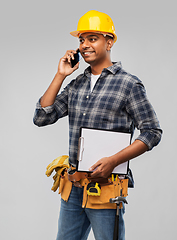
{"type": "Polygon", "coordinates": [[[112,19],[106,13],[95,10],[85,13],[79,19],[77,31],[70,32],[70,34],[74,37],[79,37],[79,35],[84,32],[108,33],[108,35],[113,35],[114,42],[117,41],[112,19]]]}

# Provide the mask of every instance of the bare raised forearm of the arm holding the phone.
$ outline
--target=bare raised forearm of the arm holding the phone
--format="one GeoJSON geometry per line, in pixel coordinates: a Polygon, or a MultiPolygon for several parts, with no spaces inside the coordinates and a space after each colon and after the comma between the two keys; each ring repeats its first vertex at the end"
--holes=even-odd
{"type": "Polygon", "coordinates": [[[40,100],[41,107],[48,107],[54,104],[55,98],[61,88],[64,79],[65,77],[59,73],[55,75],[53,81],[40,100]]]}

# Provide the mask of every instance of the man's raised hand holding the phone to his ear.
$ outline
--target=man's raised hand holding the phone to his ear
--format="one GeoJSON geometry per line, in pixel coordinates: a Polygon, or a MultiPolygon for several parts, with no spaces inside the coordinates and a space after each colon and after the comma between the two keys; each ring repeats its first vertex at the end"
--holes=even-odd
{"type": "Polygon", "coordinates": [[[77,63],[73,68],[71,67],[71,59],[74,59],[75,53],[75,50],[68,50],[59,61],[58,74],[62,75],[64,78],[79,68],[79,63],[77,63]]]}

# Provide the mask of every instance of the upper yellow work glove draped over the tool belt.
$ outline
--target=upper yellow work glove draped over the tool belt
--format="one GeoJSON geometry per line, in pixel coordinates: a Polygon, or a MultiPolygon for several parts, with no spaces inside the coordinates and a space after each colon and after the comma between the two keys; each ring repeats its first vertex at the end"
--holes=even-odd
{"type": "Polygon", "coordinates": [[[46,175],[47,177],[49,177],[53,170],[56,168],[69,168],[69,157],[67,155],[63,155],[60,157],[57,157],[55,160],[53,160],[48,166],[47,166],[47,171],[46,171],[46,175]]]}

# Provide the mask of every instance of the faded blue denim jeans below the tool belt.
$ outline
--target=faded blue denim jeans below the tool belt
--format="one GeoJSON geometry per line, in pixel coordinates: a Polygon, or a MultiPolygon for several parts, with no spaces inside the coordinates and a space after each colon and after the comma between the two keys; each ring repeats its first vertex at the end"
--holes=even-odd
{"type": "MultiPolygon", "coordinates": [[[[68,202],[61,199],[56,240],[86,240],[92,228],[96,240],[111,240],[115,209],[82,208],[83,189],[73,186],[68,202]]],[[[119,240],[125,240],[124,208],[119,210],[119,240]]]]}

